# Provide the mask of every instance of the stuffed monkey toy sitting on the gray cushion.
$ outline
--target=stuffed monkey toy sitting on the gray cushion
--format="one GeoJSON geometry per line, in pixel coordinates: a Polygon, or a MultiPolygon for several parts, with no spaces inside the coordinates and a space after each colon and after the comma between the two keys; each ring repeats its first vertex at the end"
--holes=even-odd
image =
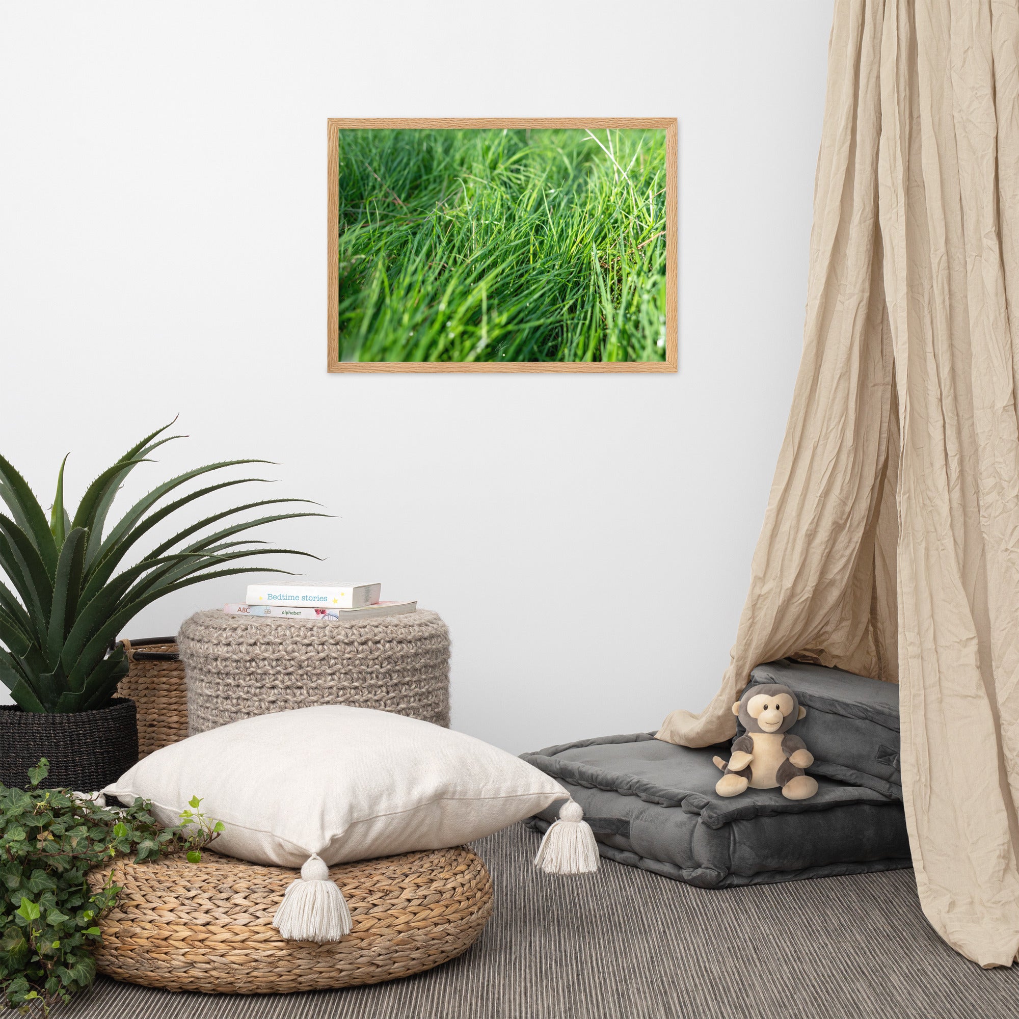
{"type": "Polygon", "coordinates": [[[814,755],[803,740],[788,732],[806,713],[796,694],[781,683],[747,687],[733,705],[733,714],[739,716],[746,735],[733,740],[728,763],[714,758],[726,772],[714,791],[719,796],[739,796],[748,787],[781,787],[788,800],[809,800],[817,792],[817,783],[803,769],[813,764],[814,755]]]}

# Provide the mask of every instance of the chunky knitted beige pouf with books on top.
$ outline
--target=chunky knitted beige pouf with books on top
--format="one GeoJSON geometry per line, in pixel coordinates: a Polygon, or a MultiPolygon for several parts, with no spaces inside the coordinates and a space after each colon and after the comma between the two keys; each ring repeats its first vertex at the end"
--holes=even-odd
{"type": "Polygon", "coordinates": [[[437,612],[333,622],[212,610],[185,620],[177,644],[192,735],[318,704],[449,725],[449,632],[437,612]]]}

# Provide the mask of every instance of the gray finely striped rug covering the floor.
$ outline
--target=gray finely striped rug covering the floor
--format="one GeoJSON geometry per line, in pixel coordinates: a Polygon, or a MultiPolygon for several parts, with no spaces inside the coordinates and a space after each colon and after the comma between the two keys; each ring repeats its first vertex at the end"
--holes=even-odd
{"type": "Polygon", "coordinates": [[[268,997],[100,978],[75,1019],[1015,1019],[1019,967],[981,970],[920,912],[911,870],[707,892],[603,861],[530,866],[518,826],[478,843],[495,915],[465,955],[368,987],[268,997]]]}

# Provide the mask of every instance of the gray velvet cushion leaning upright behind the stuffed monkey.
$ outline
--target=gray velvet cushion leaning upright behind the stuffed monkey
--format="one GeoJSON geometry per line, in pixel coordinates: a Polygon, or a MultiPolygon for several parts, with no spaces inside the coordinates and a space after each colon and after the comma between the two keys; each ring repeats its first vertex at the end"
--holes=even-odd
{"type": "Polygon", "coordinates": [[[807,709],[793,733],[814,755],[807,771],[815,779],[837,779],[902,799],[896,684],[786,658],[758,665],[751,674],[755,682],[786,684],[807,709]]]}

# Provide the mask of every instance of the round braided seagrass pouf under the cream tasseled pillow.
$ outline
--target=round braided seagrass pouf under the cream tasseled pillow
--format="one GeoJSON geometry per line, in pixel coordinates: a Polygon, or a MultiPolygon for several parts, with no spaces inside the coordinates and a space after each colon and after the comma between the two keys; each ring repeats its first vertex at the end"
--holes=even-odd
{"type": "Polygon", "coordinates": [[[492,883],[469,849],[429,850],[332,867],[353,929],[324,945],[287,942],[272,926],[299,875],[215,853],[93,870],[122,889],[100,921],[101,973],[168,990],[264,995],[379,983],[461,955],[492,912],[492,883]]]}

